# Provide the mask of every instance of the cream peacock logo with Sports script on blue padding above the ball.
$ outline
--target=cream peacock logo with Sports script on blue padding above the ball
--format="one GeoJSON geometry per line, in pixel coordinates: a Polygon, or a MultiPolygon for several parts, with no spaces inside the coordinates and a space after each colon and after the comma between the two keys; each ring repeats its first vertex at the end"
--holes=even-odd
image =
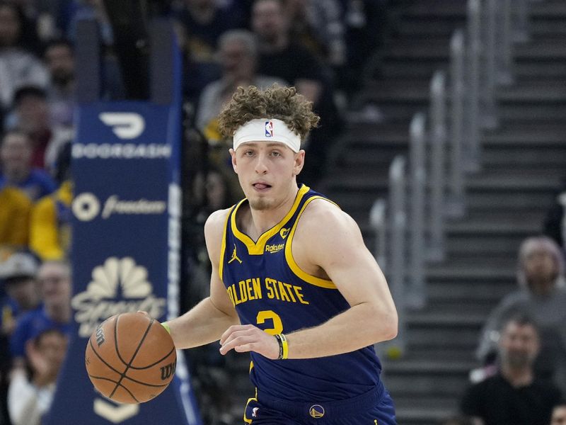
{"type": "Polygon", "coordinates": [[[71,300],[79,336],[88,338],[107,317],[118,313],[141,310],[151,317],[163,316],[167,300],[154,295],[147,275],[147,269],[131,257],[110,257],[96,266],[86,291],[71,300]]]}

